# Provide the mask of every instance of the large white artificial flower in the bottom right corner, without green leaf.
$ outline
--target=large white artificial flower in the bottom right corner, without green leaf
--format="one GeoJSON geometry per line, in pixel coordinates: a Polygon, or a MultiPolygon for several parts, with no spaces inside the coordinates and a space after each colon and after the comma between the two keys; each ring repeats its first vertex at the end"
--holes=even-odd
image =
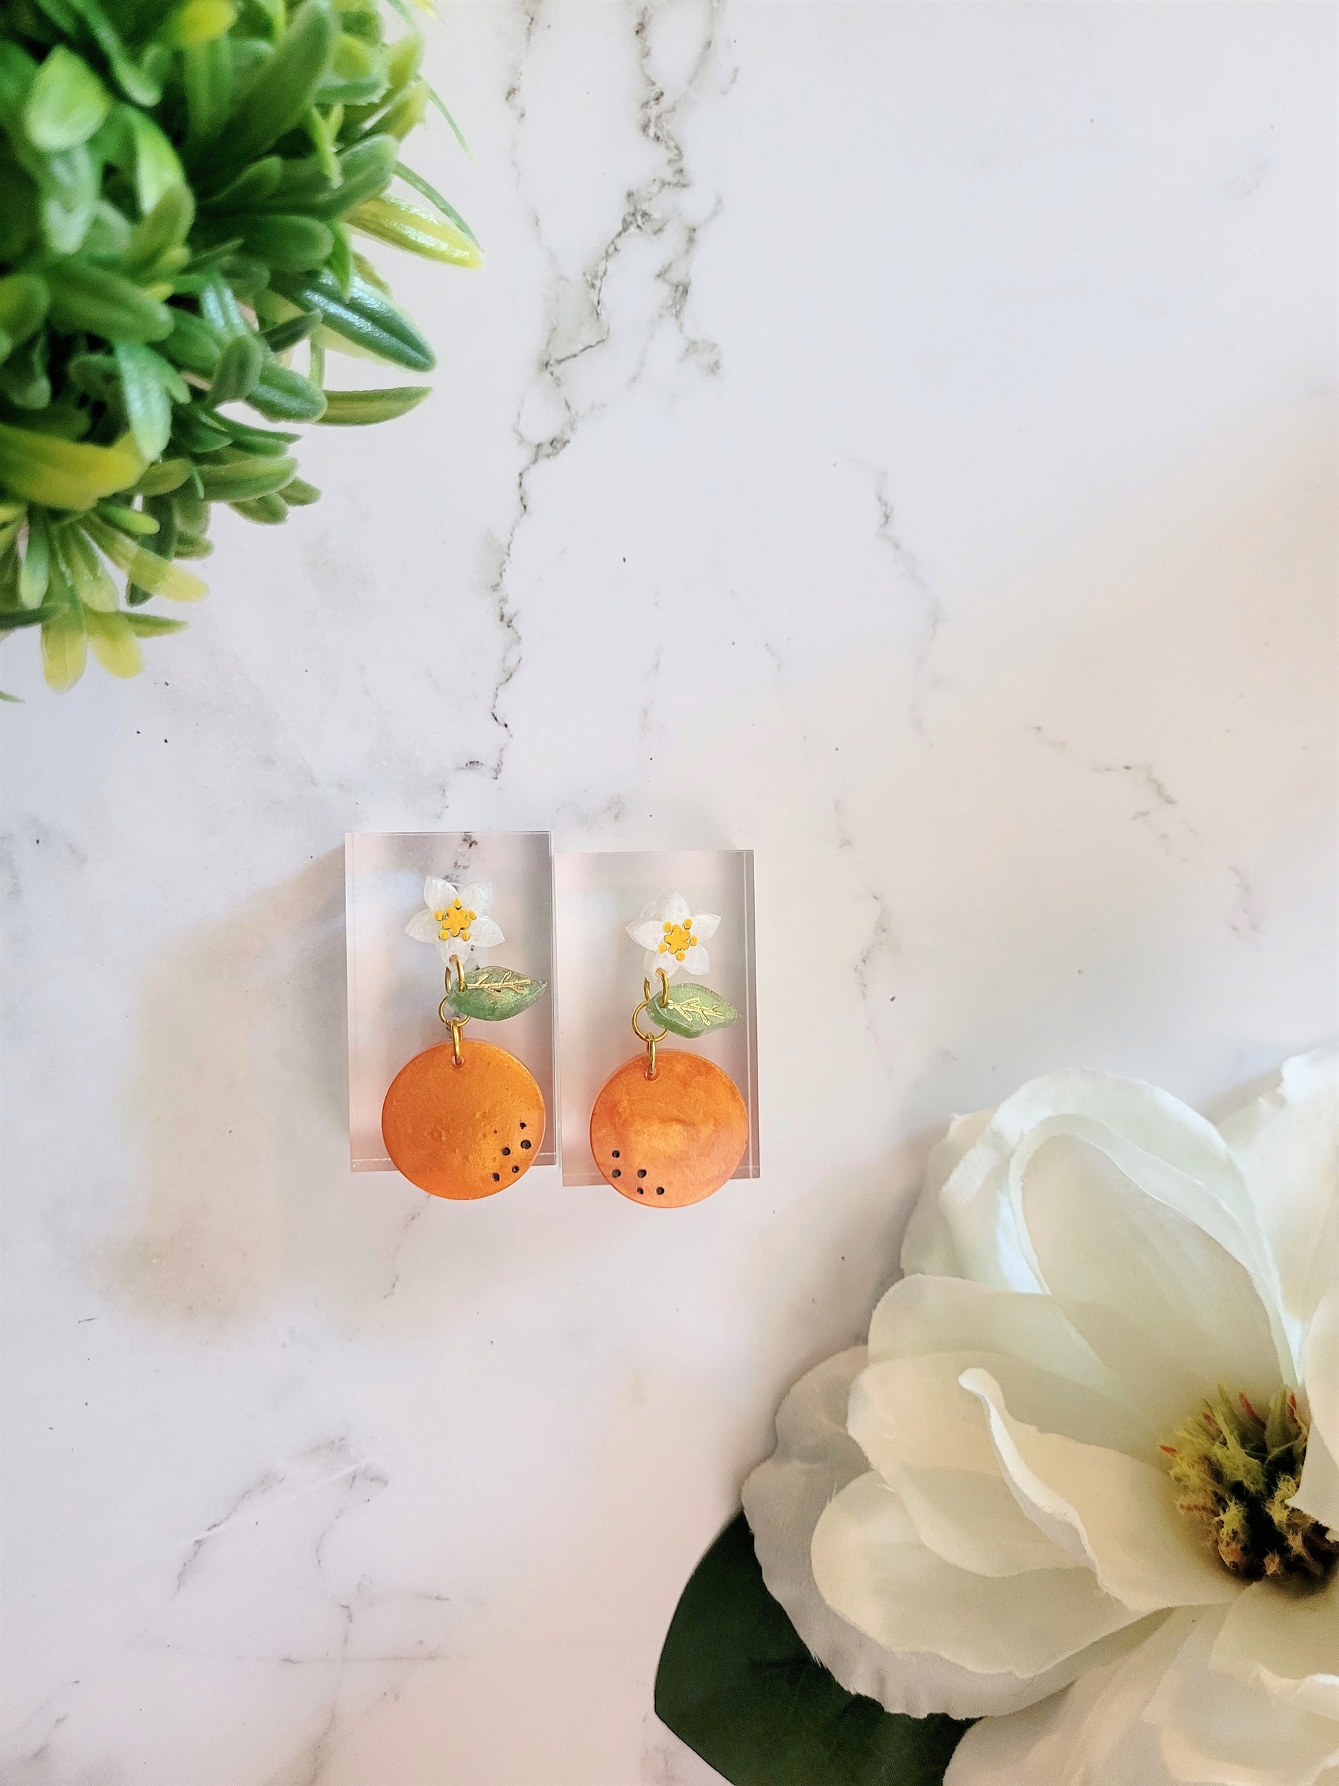
{"type": "Polygon", "coordinates": [[[1335,1106],[1325,1052],[1219,1127],[1103,1073],[959,1118],[782,1404],[762,1575],[850,1691],[982,1720],[944,1786],[1339,1786],[1335,1106]]]}

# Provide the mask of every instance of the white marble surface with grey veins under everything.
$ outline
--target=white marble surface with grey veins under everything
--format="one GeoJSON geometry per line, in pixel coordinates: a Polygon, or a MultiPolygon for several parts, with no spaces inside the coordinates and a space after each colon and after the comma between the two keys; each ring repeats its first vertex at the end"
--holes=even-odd
{"type": "Polygon", "coordinates": [[[1334,1025],[1321,5],[448,5],[491,250],[137,686],[5,686],[7,1786],[689,1786],[932,1129],[1334,1025]],[[346,829],[757,854],[764,1175],[346,1164],[346,829]],[[796,982],[803,970],[803,986],[796,982]]]}

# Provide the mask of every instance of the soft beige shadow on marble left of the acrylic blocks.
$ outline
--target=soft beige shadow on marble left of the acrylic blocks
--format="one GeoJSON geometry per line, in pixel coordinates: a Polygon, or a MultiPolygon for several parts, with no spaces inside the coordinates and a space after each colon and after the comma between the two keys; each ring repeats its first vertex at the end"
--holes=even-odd
{"type": "Polygon", "coordinates": [[[264,1300],[346,1156],[343,916],[330,850],[173,947],[145,986],[127,1088],[145,1189],[111,1261],[141,1309],[221,1320],[264,1300]]]}

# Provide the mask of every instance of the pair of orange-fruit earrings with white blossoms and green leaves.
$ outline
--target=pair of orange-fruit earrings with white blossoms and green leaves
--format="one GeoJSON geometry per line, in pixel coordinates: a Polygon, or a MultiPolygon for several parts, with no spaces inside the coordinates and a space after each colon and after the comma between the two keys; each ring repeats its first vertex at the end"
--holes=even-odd
{"type": "MultiPolygon", "coordinates": [[[[457,888],[428,875],[423,902],[405,929],[436,943],[446,964],[437,1016],[450,1041],[416,1054],[395,1075],[382,1139],[420,1189],[455,1200],[491,1197],[534,1164],[545,1098],[516,1056],[466,1043],[464,1027],[516,1016],[546,986],[512,968],[466,966],[475,950],[505,941],[487,914],[486,882],[457,888]]],[[[625,927],[645,950],[643,997],[632,1013],[645,1052],[625,1061],[595,1100],[591,1152],[605,1182],[630,1202],[662,1209],[702,1202],[727,1182],[748,1145],[748,1109],[728,1073],[684,1048],[659,1047],[666,1036],[694,1039],[739,1018],[709,986],[670,984],[680,972],[707,972],[703,943],[718,925],[714,914],[694,914],[682,895],[666,893],[625,927]]]]}

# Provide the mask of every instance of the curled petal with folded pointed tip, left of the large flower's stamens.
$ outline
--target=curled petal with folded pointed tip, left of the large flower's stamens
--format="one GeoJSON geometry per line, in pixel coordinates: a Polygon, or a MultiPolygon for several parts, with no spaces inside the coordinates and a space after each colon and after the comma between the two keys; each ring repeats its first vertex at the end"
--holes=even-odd
{"type": "Polygon", "coordinates": [[[1241,1584],[1177,1511],[1166,1470],[1014,1420],[986,1370],[962,1373],[1019,1507],[1134,1613],[1235,1600],[1241,1584]]]}

